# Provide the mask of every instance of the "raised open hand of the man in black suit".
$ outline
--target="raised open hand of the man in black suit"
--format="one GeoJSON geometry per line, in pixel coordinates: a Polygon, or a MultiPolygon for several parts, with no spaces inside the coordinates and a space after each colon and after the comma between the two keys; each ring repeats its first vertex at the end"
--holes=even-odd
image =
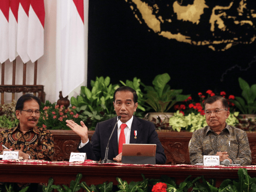
{"type": "Polygon", "coordinates": [[[66,120],[66,125],[72,129],[78,136],[81,137],[82,142],[86,143],[88,141],[88,128],[85,126],[84,122],[80,122],[81,126],[72,120],[66,120]]]}

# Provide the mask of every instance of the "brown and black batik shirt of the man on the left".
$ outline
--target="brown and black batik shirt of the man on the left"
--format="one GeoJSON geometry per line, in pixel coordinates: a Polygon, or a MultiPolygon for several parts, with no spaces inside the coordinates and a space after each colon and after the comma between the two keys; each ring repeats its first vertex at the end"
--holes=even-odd
{"type": "Polygon", "coordinates": [[[49,130],[42,127],[34,127],[23,134],[20,124],[0,133],[0,152],[3,147],[21,150],[29,154],[31,159],[52,161],[54,155],[53,136],[49,130]]]}

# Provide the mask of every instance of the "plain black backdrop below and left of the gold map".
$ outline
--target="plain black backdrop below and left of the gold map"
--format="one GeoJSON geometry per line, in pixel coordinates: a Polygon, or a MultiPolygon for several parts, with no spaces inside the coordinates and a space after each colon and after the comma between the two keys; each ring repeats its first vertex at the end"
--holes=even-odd
{"type": "Polygon", "coordinates": [[[137,77],[152,85],[167,72],[171,88],[184,94],[210,89],[240,96],[238,77],[256,83],[255,41],[213,51],[168,40],[140,24],[124,0],[90,0],[88,25],[88,86],[96,76],[109,76],[112,84],[137,77]]]}

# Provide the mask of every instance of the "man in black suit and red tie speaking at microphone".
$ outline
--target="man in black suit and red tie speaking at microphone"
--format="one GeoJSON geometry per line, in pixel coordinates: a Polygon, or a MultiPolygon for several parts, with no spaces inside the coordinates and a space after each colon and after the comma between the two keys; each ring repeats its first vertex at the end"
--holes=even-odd
{"type": "MultiPolygon", "coordinates": [[[[166,156],[162,144],[158,139],[156,128],[152,122],[133,116],[138,106],[136,91],[123,86],[114,92],[114,109],[117,116],[121,116],[109,143],[108,159],[122,161],[122,143],[126,144],[156,144],[156,164],[164,164],[166,156]],[[124,126],[121,126],[124,124],[124,126]],[[124,127],[124,128],[120,128],[124,127]],[[124,138],[125,137],[125,138],[124,138]],[[119,152],[118,152],[119,151],[119,152]]],[[[81,137],[78,151],[85,152],[88,159],[103,160],[105,157],[108,139],[112,133],[117,117],[100,122],[96,125],[91,142],[88,139],[88,129],[81,121],[81,126],[72,120],[66,120],[67,126],[81,137]]]]}

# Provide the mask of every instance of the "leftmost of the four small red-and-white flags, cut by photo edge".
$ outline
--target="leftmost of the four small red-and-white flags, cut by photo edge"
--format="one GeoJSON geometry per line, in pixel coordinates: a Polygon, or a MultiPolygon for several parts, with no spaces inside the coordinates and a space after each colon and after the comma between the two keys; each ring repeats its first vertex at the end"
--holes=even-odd
{"type": "Polygon", "coordinates": [[[9,31],[10,0],[0,0],[0,63],[9,58],[8,31],[9,31]]]}

